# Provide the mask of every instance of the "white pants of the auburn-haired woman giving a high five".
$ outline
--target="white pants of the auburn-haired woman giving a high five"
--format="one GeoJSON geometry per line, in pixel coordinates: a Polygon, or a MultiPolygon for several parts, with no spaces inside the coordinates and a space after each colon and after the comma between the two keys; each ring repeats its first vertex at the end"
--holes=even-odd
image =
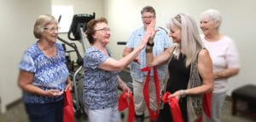
{"type": "Polygon", "coordinates": [[[121,122],[118,107],[109,107],[100,110],[85,109],[89,122],[121,122]]]}

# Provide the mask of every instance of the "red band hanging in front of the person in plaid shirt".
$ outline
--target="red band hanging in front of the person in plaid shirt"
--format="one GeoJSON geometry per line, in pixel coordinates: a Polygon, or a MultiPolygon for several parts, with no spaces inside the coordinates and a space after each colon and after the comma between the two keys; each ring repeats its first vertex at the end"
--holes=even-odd
{"type": "Polygon", "coordinates": [[[148,107],[148,113],[150,115],[150,119],[155,120],[158,118],[158,115],[159,115],[160,84],[159,84],[159,78],[157,75],[157,68],[154,67],[154,84],[155,84],[155,92],[156,92],[155,94],[156,94],[156,102],[157,102],[157,109],[156,109],[156,112],[154,112],[150,108],[149,92],[148,92],[148,86],[149,86],[149,81],[150,81],[150,71],[151,71],[151,67],[144,67],[142,69],[142,72],[148,72],[146,82],[145,82],[144,88],[143,88],[143,95],[144,95],[144,100],[146,102],[146,105],[148,107]]]}

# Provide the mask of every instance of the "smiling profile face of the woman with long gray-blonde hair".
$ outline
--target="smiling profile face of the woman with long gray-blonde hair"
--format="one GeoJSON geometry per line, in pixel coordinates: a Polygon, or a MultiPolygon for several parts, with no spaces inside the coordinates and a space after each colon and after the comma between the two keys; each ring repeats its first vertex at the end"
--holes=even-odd
{"type": "Polygon", "coordinates": [[[181,43],[181,29],[177,27],[176,25],[172,25],[170,32],[169,32],[169,37],[172,38],[173,43],[181,43]]]}

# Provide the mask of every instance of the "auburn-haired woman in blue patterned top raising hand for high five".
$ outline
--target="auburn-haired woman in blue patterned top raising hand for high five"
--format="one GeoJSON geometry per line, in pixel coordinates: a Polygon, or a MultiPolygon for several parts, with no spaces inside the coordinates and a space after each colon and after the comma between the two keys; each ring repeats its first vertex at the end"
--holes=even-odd
{"type": "Polygon", "coordinates": [[[143,37],[140,46],[131,54],[115,60],[107,47],[110,38],[108,20],[100,18],[87,24],[87,38],[91,45],[84,55],[84,109],[90,122],[120,122],[118,87],[131,92],[119,78],[122,71],[144,49],[150,33],[143,37]]]}

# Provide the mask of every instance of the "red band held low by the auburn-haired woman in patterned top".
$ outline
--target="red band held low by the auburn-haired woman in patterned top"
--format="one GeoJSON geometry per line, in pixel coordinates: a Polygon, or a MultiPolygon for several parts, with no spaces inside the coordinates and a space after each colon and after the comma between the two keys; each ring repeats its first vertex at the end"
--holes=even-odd
{"type": "Polygon", "coordinates": [[[131,92],[123,92],[119,96],[119,111],[123,111],[126,107],[129,107],[127,122],[134,122],[134,102],[131,92]]]}

